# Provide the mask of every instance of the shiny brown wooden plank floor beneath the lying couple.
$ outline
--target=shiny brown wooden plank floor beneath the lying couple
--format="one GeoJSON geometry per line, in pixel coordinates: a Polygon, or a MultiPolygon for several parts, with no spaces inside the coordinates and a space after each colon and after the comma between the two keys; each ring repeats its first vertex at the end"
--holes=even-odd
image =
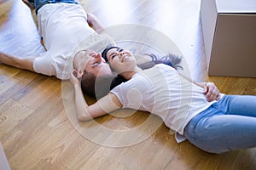
{"type": "MultiPolygon", "coordinates": [[[[0,51],[23,57],[43,52],[30,9],[21,0],[0,2],[0,51]]],[[[225,94],[256,95],[255,78],[207,77],[200,0],[81,3],[106,27],[143,24],[172,39],[195,81],[215,82],[225,94]]],[[[256,169],[256,149],[208,154],[187,141],[177,144],[157,122],[128,110],[78,122],[69,82],[0,64],[0,141],[12,169],[256,169]],[[155,123],[147,127],[148,120],[155,123]]]]}

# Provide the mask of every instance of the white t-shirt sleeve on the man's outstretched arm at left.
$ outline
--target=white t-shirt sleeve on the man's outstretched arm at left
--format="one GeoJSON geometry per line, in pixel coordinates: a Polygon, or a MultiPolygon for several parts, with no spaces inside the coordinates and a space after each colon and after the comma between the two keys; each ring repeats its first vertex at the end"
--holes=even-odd
{"type": "Polygon", "coordinates": [[[47,76],[55,76],[55,66],[48,52],[40,54],[39,57],[33,61],[33,69],[37,73],[47,76]]]}

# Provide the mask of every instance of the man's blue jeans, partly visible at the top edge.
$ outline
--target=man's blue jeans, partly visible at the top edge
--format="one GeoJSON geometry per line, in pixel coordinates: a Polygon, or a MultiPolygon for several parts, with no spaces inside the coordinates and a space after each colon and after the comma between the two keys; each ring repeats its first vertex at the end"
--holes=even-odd
{"type": "Polygon", "coordinates": [[[42,8],[45,4],[48,3],[74,3],[79,4],[77,0],[28,0],[30,4],[36,9],[36,14],[38,14],[38,10],[42,8]]]}

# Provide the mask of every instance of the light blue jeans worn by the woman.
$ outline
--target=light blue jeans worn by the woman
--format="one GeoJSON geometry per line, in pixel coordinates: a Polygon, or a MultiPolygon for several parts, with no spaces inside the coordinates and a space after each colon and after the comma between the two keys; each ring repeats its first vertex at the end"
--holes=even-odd
{"type": "Polygon", "coordinates": [[[256,96],[225,95],[184,129],[191,144],[211,153],[256,147],[256,96]]]}

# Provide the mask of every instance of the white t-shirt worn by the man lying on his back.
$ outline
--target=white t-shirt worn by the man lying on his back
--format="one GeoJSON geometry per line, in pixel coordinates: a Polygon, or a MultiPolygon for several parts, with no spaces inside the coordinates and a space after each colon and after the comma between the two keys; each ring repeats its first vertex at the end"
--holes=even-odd
{"type": "Polygon", "coordinates": [[[49,3],[40,8],[38,32],[44,39],[46,52],[34,59],[33,68],[62,80],[68,79],[73,70],[73,57],[79,44],[84,44],[80,49],[93,49],[92,46],[106,47],[112,41],[108,35],[97,34],[88,25],[84,8],[72,3],[49,3]]]}

